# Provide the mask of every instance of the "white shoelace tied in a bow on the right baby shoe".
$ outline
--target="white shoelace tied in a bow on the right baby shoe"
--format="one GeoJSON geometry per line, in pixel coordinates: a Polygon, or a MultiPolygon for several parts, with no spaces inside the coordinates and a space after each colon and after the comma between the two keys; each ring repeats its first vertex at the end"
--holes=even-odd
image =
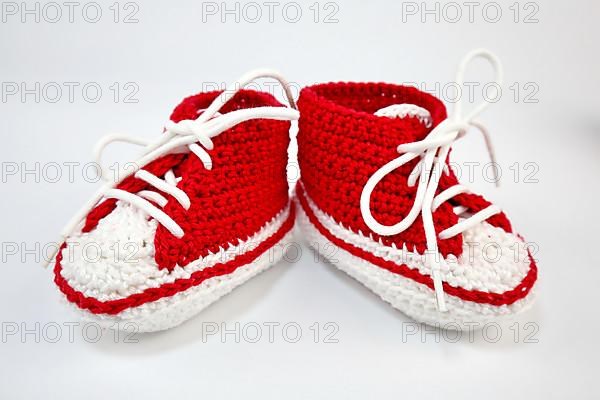
{"type": "MultiPolygon", "coordinates": [[[[483,49],[473,50],[465,56],[459,65],[456,75],[456,83],[460,87],[463,87],[466,67],[473,59],[477,57],[482,57],[491,63],[495,74],[494,82],[497,84],[496,87],[500,87],[502,82],[502,67],[500,65],[500,61],[493,53],[483,49]]],[[[496,93],[496,95],[498,95],[498,93],[496,93]]],[[[487,130],[481,124],[473,120],[490,104],[490,99],[496,100],[496,96],[487,97],[484,102],[479,104],[464,117],[461,113],[461,102],[457,102],[452,115],[436,126],[423,140],[405,143],[398,146],[398,153],[400,153],[401,156],[393,159],[377,170],[365,184],[360,197],[360,210],[365,223],[369,228],[371,228],[371,230],[373,230],[373,232],[376,232],[382,236],[397,235],[403,232],[410,227],[413,222],[415,222],[419,213],[421,214],[421,218],[423,219],[423,228],[425,230],[425,238],[427,241],[425,260],[431,268],[437,307],[438,310],[442,312],[447,311],[444,298],[443,282],[440,273],[445,261],[438,251],[438,235],[436,234],[434,227],[433,212],[442,203],[461,193],[467,193],[469,190],[463,185],[456,184],[443,190],[437,195],[435,193],[437,191],[442,172],[449,172],[447,170],[446,158],[448,157],[448,152],[452,147],[452,144],[464,136],[467,133],[467,130],[471,127],[477,128],[483,134],[490,158],[494,165],[496,165],[494,151],[487,130]],[[387,174],[417,157],[421,157],[421,160],[419,163],[417,163],[408,178],[408,186],[410,187],[414,186],[417,180],[419,182],[417,193],[415,195],[415,201],[410,212],[404,217],[404,219],[395,225],[380,224],[375,220],[375,218],[373,218],[373,215],[371,214],[370,201],[373,189],[387,174]]],[[[410,108],[412,105],[400,106],[409,106],[408,108],[410,108]]],[[[390,116],[390,107],[379,110],[376,114],[390,116]]],[[[419,118],[422,122],[427,124],[430,116],[423,115],[424,109],[417,106],[412,107],[413,109],[410,115],[419,118]]],[[[408,110],[402,109],[402,111],[406,113],[408,110]]],[[[495,168],[494,172],[497,172],[495,168]]],[[[495,181],[498,182],[498,179],[495,181]]],[[[490,205],[485,209],[470,215],[465,207],[456,207],[454,212],[459,216],[460,220],[455,225],[440,232],[440,240],[449,239],[453,236],[461,234],[462,232],[487,220],[491,216],[498,214],[500,209],[495,205],[490,205]]]]}

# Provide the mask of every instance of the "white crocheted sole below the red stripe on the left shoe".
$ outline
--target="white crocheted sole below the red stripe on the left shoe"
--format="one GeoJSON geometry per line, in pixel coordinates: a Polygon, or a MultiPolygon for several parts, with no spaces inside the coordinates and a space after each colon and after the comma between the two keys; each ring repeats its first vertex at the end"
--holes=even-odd
{"type": "Polygon", "coordinates": [[[231,274],[207,279],[200,285],[171,297],[129,308],[117,315],[93,314],[72,303],[67,303],[80,314],[82,319],[105,328],[128,332],[155,332],[173,328],[192,318],[237,286],[276,264],[283,257],[284,249],[292,242],[292,238],[293,229],[253,262],[238,267],[231,274]]]}

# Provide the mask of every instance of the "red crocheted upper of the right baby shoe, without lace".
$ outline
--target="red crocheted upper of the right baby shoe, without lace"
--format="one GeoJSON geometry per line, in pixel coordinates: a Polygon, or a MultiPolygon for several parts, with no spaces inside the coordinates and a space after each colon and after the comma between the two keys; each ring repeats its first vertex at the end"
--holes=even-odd
{"type": "MultiPolygon", "coordinates": [[[[369,177],[381,166],[398,157],[402,143],[423,139],[433,127],[426,128],[417,118],[384,118],[373,115],[380,108],[410,103],[427,109],[433,127],[446,118],[441,101],[416,88],[385,83],[326,83],[304,88],[300,92],[298,160],[301,182],[308,196],[325,213],[354,232],[371,235],[387,246],[395,244],[419,253],[427,249],[423,223],[418,218],[408,229],[393,236],[380,236],[364,222],[360,196],[369,177]]],[[[376,220],[393,225],[406,216],[413,206],[417,185],[409,187],[407,179],[419,159],[386,175],[371,196],[371,210],[376,220]]],[[[454,173],[444,174],[440,191],[458,183],[454,173]]],[[[479,211],[490,203],[476,195],[460,195],[444,202],[434,213],[439,233],[458,222],[453,206],[463,205],[479,211]]],[[[510,231],[503,214],[488,220],[510,231]]],[[[462,253],[462,235],[440,240],[440,252],[447,256],[462,253]]]]}

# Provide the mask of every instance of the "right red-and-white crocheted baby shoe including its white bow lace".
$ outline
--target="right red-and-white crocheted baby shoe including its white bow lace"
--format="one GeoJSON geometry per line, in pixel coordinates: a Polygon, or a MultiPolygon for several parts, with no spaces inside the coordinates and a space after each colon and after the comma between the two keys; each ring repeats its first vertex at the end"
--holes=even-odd
{"type": "MultiPolygon", "coordinates": [[[[475,57],[491,62],[499,85],[500,64],[484,50],[467,55],[457,83],[475,57]]],[[[298,101],[309,244],[395,308],[448,329],[523,310],[537,277],[504,213],[450,168],[452,144],[471,127],[491,152],[473,120],[487,105],[464,116],[459,103],[446,118],[435,97],[384,83],[319,84],[298,101]]]]}

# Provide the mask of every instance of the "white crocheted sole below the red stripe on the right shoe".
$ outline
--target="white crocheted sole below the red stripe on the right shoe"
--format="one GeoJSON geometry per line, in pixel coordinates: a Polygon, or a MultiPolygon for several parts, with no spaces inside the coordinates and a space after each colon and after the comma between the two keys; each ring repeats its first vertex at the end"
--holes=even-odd
{"type": "Polygon", "coordinates": [[[419,322],[451,330],[477,329],[488,322],[522,312],[532,304],[534,290],[523,299],[502,306],[446,296],[448,311],[439,312],[436,307],[435,293],[427,286],[374,265],[343,248],[336,248],[335,252],[323,251],[331,249],[331,242],[310,222],[300,204],[297,205],[297,210],[299,227],[310,246],[319,251],[335,267],[361,282],[394,308],[419,322]]]}

